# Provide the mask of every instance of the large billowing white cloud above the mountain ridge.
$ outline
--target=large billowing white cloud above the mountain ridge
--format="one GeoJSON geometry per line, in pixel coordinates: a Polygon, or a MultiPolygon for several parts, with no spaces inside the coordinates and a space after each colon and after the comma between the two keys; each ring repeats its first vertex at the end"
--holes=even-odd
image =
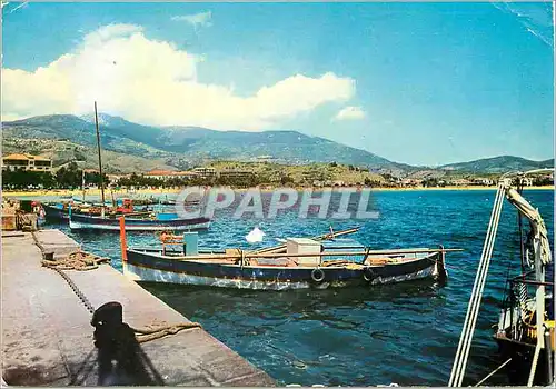
{"type": "Polygon", "coordinates": [[[28,72],[2,69],[2,118],[99,110],[156,126],[259,131],[327,102],[345,102],[355,81],[328,72],[288,77],[239,97],[197,79],[199,56],[150,40],[138,26],[110,24],[70,53],[28,72]]]}

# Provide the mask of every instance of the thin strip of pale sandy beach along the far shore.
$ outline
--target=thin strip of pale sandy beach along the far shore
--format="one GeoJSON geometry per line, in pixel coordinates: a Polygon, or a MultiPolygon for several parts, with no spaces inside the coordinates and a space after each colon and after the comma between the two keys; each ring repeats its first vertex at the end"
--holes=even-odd
{"type": "MultiPolygon", "coordinates": [[[[335,187],[335,188],[292,188],[296,190],[304,190],[304,189],[312,189],[315,191],[322,190],[322,189],[358,189],[356,187],[335,187]]],[[[479,186],[473,186],[473,187],[411,187],[411,188],[369,188],[371,191],[377,191],[377,192],[387,192],[387,191],[463,191],[463,190],[496,190],[496,186],[492,187],[479,187],[479,186]]],[[[361,188],[366,189],[366,188],[361,188]]],[[[554,190],[554,186],[542,186],[542,187],[525,187],[525,190],[554,190]]],[[[247,191],[248,189],[240,188],[240,189],[234,189],[236,191],[247,191]]],[[[261,192],[271,192],[274,190],[269,188],[260,188],[261,192]]],[[[120,189],[120,190],[106,190],[105,196],[107,200],[111,199],[112,193],[115,196],[121,197],[121,194],[125,194],[126,197],[137,197],[137,196],[153,196],[153,194],[172,194],[172,193],[179,193],[181,189],[175,189],[175,188],[169,188],[169,189],[138,189],[133,192],[130,192],[127,189],[120,189]]],[[[33,197],[33,196],[49,196],[49,197],[56,197],[56,196],[72,196],[76,198],[81,198],[82,191],[80,189],[53,189],[53,190],[2,190],[2,197],[33,197]]],[[[93,196],[98,197],[100,196],[100,189],[88,189],[86,191],[86,197],[93,196]]]]}

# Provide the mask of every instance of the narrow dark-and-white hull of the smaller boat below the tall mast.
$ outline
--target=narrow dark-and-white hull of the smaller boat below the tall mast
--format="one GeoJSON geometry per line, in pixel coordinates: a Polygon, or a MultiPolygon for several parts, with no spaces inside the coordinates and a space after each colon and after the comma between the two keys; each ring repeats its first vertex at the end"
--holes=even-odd
{"type": "MultiPolygon", "coordinates": [[[[119,218],[99,218],[71,215],[69,225],[75,230],[119,231],[119,218]]],[[[210,219],[150,220],[126,218],[126,231],[190,231],[210,227],[210,219]]]]}

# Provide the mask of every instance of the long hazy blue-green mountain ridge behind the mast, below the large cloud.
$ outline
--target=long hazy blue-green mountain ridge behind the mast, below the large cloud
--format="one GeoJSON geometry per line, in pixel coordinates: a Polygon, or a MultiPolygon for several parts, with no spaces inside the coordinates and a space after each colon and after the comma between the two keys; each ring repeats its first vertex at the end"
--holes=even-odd
{"type": "MultiPolygon", "coordinates": [[[[34,117],[4,122],[3,138],[60,139],[95,146],[90,118],[70,114],[34,117]]],[[[332,162],[397,167],[365,150],[350,148],[296,131],[214,131],[202,128],[141,126],[107,114],[100,116],[101,144],[106,150],[147,158],[187,159],[200,163],[215,159],[252,160],[271,156],[284,163],[332,162]]],[[[404,167],[404,166],[400,166],[404,167]]]]}

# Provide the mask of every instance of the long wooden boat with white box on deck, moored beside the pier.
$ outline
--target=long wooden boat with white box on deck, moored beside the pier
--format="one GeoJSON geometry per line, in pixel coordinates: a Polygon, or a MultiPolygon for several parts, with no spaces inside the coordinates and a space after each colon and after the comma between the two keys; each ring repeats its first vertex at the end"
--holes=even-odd
{"type": "MultiPolygon", "coordinates": [[[[127,218],[125,223],[127,230],[127,218]]],[[[128,248],[122,232],[123,273],[138,281],[264,290],[370,286],[447,277],[444,258],[451,250],[440,247],[373,251],[356,241],[338,245],[337,236],[290,238],[278,247],[242,251],[198,249],[195,232],[178,239],[162,238],[162,247],[158,249],[128,248]]]]}

